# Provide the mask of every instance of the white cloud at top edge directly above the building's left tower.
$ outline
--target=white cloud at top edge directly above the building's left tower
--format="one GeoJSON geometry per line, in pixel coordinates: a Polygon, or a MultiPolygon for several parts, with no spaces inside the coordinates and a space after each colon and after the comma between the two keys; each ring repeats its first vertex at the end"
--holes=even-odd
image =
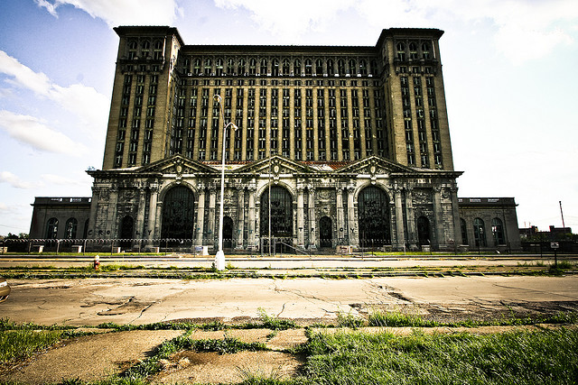
{"type": "Polygon", "coordinates": [[[109,26],[170,25],[181,14],[176,0],[35,0],[36,4],[58,16],[58,7],[73,5],[109,26]]]}

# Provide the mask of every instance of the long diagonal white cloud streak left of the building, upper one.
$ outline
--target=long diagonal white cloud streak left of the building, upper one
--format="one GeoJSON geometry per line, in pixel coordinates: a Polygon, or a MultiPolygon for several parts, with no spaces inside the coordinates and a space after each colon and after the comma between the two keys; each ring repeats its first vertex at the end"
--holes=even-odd
{"type": "Polygon", "coordinates": [[[42,72],[34,72],[3,50],[0,50],[0,73],[13,77],[5,80],[9,84],[28,88],[37,96],[47,98],[77,115],[80,127],[93,138],[107,127],[109,99],[98,94],[93,87],[81,84],[61,87],[52,83],[42,72]]]}

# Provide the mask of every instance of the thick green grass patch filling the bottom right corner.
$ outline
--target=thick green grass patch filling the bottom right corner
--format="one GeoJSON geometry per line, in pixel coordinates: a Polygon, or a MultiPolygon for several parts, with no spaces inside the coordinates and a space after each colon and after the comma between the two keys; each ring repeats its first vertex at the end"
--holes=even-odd
{"type": "Polygon", "coordinates": [[[314,334],[298,383],[536,384],[578,378],[578,331],[314,334]]]}

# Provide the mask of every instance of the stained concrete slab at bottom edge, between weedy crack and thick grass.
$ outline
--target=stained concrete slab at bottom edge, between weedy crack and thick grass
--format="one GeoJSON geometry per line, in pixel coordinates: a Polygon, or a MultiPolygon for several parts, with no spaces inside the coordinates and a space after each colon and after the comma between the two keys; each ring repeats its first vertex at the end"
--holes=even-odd
{"type": "Polygon", "coordinates": [[[164,364],[164,371],[152,383],[236,383],[253,376],[283,380],[294,377],[303,361],[281,352],[219,355],[185,351],[164,364]]]}

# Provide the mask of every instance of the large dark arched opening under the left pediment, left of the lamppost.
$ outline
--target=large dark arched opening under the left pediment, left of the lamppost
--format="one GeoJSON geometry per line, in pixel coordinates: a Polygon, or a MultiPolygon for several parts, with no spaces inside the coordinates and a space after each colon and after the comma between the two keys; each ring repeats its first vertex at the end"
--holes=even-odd
{"type": "Polygon", "coordinates": [[[171,188],[163,199],[163,239],[191,239],[194,227],[195,198],[184,186],[171,188]]]}

